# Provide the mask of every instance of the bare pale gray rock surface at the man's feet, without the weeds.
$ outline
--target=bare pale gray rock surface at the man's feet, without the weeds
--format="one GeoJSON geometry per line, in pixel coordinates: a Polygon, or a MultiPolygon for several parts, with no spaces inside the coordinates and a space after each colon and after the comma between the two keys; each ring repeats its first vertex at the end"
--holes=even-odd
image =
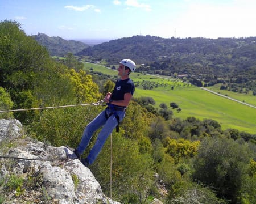
{"type": "Polygon", "coordinates": [[[7,162],[3,162],[0,177],[10,173],[24,176],[24,173],[33,169],[35,175],[42,175],[44,194],[51,203],[119,203],[104,195],[90,169],[80,160],[67,160],[67,152],[72,154],[71,150],[63,146],[47,146],[42,142],[33,142],[32,139],[22,142],[24,139],[19,138],[21,130],[22,125],[17,120],[0,120],[0,142],[6,138],[10,140],[18,138],[22,143],[10,148],[5,155],[18,159],[14,160],[11,169],[10,166],[5,167],[7,162]],[[76,178],[76,181],[73,178],[76,178]]]}

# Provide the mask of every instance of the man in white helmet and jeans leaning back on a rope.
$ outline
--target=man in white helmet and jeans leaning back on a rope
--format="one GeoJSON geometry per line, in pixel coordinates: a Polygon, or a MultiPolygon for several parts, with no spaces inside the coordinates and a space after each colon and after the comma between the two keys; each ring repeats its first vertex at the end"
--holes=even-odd
{"type": "Polygon", "coordinates": [[[93,121],[91,121],[86,128],[81,138],[79,146],[75,150],[77,158],[81,158],[82,153],[88,146],[93,133],[102,127],[98,134],[96,143],[90,150],[89,155],[85,159],[81,159],[82,164],[86,167],[92,164],[101,151],[106,139],[112,133],[113,129],[117,127],[119,122],[125,117],[125,111],[131,97],[133,96],[135,87],[133,81],[129,78],[131,71],[135,71],[136,65],[130,59],[123,59],[119,62],[118,76],[120,78],[115,83],[113,93],[108,92],[105,96],[105,101],[108,107],[102,111],[93,121]]]}

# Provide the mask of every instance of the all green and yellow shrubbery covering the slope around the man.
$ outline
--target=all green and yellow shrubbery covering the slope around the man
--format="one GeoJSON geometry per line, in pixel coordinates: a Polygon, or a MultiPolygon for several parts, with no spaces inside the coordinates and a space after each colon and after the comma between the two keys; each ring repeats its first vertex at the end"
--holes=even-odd
{"type": "MultiPolygon", "coordinates": [[[[56,62],[43,46],[25,35],[18,22],[1,22],[0,108],[92,103],[113,87],[113,82],[106,81],[100,92],[92,75],[68,66],[70,58],[67,56],[65,65],[56,62]]],[[[20,120],[27,134],[40,141],[76,147],[84,126],[102,109],[85,106],[0,114],[20,120]]],[[[148,203],[155,197],[164,203],[256,202],[256,135],[222,130],[210,118],[164,118],[148,111],[138,99],[129,105],[120,132],[112,136],[114,200],[148,203]],[[159,189],[154,174],[164,188],[159,189]]],[[[109,155],[110,138],[90,167],[106,196],[110,194],[109,155]]]]}

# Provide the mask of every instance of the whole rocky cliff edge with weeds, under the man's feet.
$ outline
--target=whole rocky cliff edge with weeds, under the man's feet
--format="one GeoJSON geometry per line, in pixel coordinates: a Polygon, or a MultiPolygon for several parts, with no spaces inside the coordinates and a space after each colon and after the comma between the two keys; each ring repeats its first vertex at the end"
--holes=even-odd
{"type": "Polygon", "coordinates": [[[80,160],[66,160],[67,153],[73,152],[27,137],[18,120],[0,120],[0,199],[3,203],[119,203],[102,193],[80,160]]]}

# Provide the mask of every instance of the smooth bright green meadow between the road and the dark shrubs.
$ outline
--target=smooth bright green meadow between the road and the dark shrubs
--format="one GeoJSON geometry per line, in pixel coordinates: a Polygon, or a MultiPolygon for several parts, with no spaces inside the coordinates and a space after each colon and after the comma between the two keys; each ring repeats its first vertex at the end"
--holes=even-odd
{"type": "Polygon", "coordinates": [[[156,101],[156,107],[160,103],[170,106],[175,102],[182,109],[174,117],[187,118],[193,116],[203,120],[211,118],[221,124],[222,129],[234,128],[256,133],[256,109],[235,101],[224,99],[220,96],[201,90],[198,87],[176,88],[174,90],[141,90],[135,91],[134,97],[150,96],[156,101]]]}

